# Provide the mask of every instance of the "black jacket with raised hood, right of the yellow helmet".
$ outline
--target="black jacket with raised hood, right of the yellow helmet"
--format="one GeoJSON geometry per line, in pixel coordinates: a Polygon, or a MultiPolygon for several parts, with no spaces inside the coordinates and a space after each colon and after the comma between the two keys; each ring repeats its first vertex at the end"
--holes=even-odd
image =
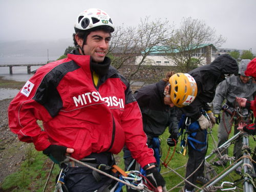
{"type": "Polygon", "coordinates": [[[238,74],[238,63],[230,55],[222,54],[209,65],[198,67],[188,74],[197,82],[197,96],[191,104],[181,110],[186,116],[196,121],[201,116],[201,110],[210,110],[207,103],[214,99],[216,87],[225,79],[224,74],[238,74]]]}

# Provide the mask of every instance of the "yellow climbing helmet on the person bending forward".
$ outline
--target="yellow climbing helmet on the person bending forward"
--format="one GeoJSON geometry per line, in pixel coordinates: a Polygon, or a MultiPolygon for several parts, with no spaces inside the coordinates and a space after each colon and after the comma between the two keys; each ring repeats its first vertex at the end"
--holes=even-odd
{"type": "Polygon", "coordinates": [[[169,78],[170,99],[178,106],[189,105],[197,96],[197,83],[195,79],[187,73],[176,73],[169,78]]]}

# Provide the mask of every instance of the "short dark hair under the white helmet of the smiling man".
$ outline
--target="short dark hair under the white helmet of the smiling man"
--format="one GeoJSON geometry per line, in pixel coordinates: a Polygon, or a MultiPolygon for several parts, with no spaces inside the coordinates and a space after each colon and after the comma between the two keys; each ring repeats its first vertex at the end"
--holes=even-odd
{"type": "Polygon", "coordinates": [[[76,48],[78,48],[78,44],[76,42],[75,36],[76,34],[78,35],[79,38],[83,39],[83,44],[86,44],[87,41],[87,36],[92,32],[92,31],[104,31],[105,33],[110,33],[113,30],[112,27],[110,26],[98,26],[98,27],[94,27],[92,29],[89,30],[80,30],[76,33],[73,33],[73,41],[74,41],[74,45],[76,48]]]}

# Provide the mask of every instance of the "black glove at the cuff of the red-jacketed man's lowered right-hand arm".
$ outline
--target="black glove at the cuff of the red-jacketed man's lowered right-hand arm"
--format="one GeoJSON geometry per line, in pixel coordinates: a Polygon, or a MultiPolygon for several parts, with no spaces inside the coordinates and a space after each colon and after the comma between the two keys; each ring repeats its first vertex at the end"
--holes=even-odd
{"type": "Polygon", "coordinates": [[[146,178],[155,186],[165,186],[163,176],[158,172],[157,167],[146,169],[146,178]]]}

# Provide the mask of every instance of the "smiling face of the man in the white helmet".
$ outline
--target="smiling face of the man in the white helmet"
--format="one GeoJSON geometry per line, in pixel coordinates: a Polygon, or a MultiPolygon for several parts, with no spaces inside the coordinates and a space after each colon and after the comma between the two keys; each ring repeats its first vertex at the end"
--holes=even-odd
{"type": "Polygon", "coordinates": [[[83,46],[85,55],[90,55],[94,62],[102,62],[108,53],[110,33],[92,31],[87,36],[86,45],[83,46]]]}

